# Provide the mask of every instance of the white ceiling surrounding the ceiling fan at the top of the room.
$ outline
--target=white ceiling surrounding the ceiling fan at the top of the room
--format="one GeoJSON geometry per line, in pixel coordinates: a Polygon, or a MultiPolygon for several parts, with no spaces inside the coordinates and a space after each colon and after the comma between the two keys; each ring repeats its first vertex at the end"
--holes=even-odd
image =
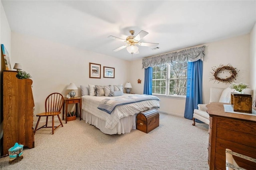
{"type": "Polygon", "coordinates": [[[256,22],[256,0],[228,1],[63,1],[2,0],[14,32],[45,38],[104,55],[131,60],[126,49],[114,52],[129,31],[149,32],[133,59],[249,34],[256,22]]]}

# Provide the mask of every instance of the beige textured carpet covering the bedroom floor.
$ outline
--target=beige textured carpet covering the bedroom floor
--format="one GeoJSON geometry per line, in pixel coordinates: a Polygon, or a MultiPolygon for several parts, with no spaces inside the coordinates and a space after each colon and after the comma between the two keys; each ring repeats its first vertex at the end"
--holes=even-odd
{"type": "Polygon", "coordinates": [[[160,127],[148,134],[108,135],[76,119],[53,135],[38,130],[35,148],[24,148],[13,165],[1,158],[0,169],[208,170],[207,143],[208,125],[172,115],[160,114],[160,127]]]}

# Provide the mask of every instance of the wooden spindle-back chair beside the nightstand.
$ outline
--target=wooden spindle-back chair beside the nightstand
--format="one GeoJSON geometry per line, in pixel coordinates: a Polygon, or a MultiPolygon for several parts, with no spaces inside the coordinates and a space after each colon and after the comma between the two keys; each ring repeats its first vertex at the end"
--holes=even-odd
{"type": "Polygon", "coordinates": [[[60,125],[63,127],[62,121],[60,119],[60,113],[61,109],[64,103],[64,97],[60,93],[52,93],[48,95],[48,97],[45,100],[45,112],[39,113],[36,116],[38,117],[38,121],[36,123],[36,128],[34,130],[34,134],[36,133],[36,130],[40,128],[52,128],[52,134],[54,134],[54,129],[60,127],[60,125]],[[54,116],[58,116],[58,119],[60,121],[60,125],[54,127],[54,116]],[[38,128],[38,124],[40,122],[41,117],[46,117],[46,124],[42,127],[38,128]],[[52,117],[52,126],[48,127],[48,117],[52,117]]]}

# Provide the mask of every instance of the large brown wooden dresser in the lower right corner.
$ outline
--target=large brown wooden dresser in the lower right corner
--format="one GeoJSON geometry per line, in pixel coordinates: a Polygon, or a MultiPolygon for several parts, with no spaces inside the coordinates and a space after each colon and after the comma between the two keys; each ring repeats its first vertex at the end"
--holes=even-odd
{"type": "MultiPolygon", "coordinates": [[[[256,116],[224,112],[223,104],[206,105],[210,115],[208,164],[210,170],[226,169],[226,148],[256,158],[256,116]]],[[[256,163],[234,156],[238,165],[255,170],[256,163]]]]}

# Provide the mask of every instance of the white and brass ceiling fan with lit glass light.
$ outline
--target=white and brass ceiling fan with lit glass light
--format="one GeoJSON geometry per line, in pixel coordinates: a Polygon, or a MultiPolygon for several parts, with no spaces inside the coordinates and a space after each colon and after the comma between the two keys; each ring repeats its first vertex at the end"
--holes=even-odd
{"type": "Polygon", "coordinates": [[[147,46],[147,47],[156,47],[156,46],[159,45],[159,43],[140,42],[140,40],[148,34],[148,32],[146,32],[146,31],[143,31],[143,30],[140,31],[140,33],[137,36],[134,36],[134,33],[135,33],[134,30],[131,30],[130,33],[132,35],[128,36],[126,38],[126,40],[124,40],[122,38],[115,37],[115,36],[108,36],[108,38],[112,38],[114,40],[118,40],[118,41],[127,43],[126,45],[118,47],[118,48],[114,49],[113,51],[116,52],[116,51],[119,51],[120,49],[123,49],[123,48],[127,47],[126,49],[129,53],[138,54],[139,53],[139,51],[138,51],[139,48],[136,45],[147,46]]]}

